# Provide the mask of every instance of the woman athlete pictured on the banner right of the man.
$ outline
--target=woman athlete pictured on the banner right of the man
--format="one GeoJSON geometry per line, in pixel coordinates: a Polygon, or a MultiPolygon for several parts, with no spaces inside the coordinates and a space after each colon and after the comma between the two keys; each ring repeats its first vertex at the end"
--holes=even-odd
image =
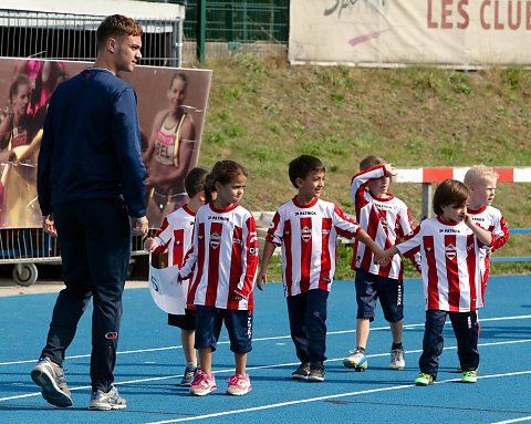
{"type": "Polygon", "coordinates": [[[146,194],[149,224],[159,226],[164,216],[186,200],[185,177],[190,164],[196,130],[184,104],[188,77],[177,72],[169,82],[169,107],[155,116],[144,164],[147,168],[146,194]]]}

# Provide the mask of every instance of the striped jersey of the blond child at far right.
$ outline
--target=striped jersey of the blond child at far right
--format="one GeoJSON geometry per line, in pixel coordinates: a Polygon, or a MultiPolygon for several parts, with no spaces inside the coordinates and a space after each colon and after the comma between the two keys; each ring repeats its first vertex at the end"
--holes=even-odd
{"type": "MultiPolygon", "coordinates": [[[[492,206],[481,206],[479,209],[468,209],[468,213],[476,224],[492,232],[492,248],[490,248],[490,251],[499,249],[507,242],[507,239],[509,238],[509,226],[499,209],[492,206]]],[[[490,272],[490,260],[487,255],[488,251],[489,248],[480,250],[480,266],[483,283],[487,283],[490,272]]]]}

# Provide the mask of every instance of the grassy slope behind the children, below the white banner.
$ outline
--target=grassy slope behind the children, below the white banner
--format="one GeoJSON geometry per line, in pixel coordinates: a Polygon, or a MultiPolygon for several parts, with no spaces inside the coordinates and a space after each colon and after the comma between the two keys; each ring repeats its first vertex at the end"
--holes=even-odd
{"type": "MultiPolygon", "coordinates": [[[[293,196],[288,163],[300,154],[325,163],[323,198],[350,214],[350,180],[369,154],[398,167],[531,165],[529,71],[290,68],[283,58],[248,54],[207,68],[214,81],[199,162],[244,164],[250,210],[275,210],[293,196]]],[[[389,192],[418,224],[420,185],[392,184],[389,192]]],[[[530,228],[531,184],[499,184],[493,206],[512,228],[530,228]]],[[[530,240],[513,235],[497,255],[530,255],[530,240]]],[[[339,256],[336,278],[352,278],[352,249],[339,256]]],[[[275,281],[278,269],[272,263],[275,281]]],[[[530,273],[531,263],[492,263],[492,272],[530,273]]]]}

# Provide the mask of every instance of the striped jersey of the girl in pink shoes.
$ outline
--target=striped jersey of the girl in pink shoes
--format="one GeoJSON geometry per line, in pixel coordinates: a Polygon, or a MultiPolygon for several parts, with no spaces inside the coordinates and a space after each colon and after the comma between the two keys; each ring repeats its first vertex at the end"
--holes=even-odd
{"type": "Polygon", "coordinates": [[[196,215],[194,246],[180,276],[195,267],[190,292],[194,304],[219,309],[252,310],[252,289],[258,270],[257,224],[240,205],[216,209],[201,206],[196,215]]]}

